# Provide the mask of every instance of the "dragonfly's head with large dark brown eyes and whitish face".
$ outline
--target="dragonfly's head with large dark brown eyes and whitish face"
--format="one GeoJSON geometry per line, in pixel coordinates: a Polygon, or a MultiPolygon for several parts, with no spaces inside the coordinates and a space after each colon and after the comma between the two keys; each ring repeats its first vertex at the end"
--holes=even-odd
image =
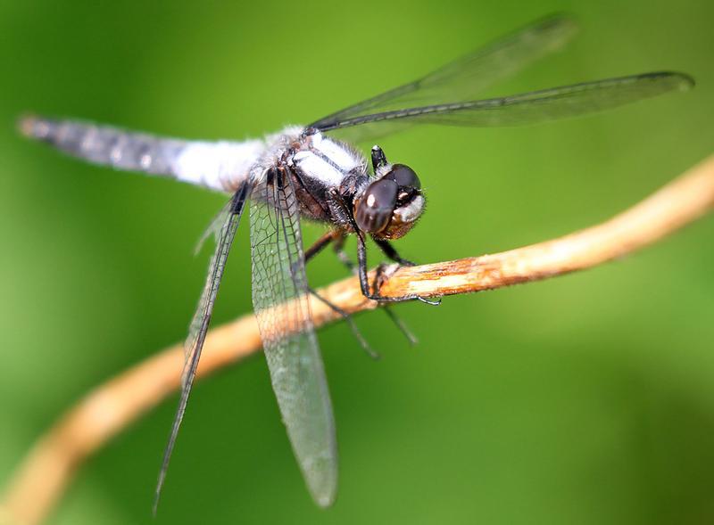
{"type": "Polygon", "coordinates": [[[392,164],[354,201],[354,220],[363,232],[378,239],[407,234],[424,211],[424,195],[414,170],[392,164]]]}

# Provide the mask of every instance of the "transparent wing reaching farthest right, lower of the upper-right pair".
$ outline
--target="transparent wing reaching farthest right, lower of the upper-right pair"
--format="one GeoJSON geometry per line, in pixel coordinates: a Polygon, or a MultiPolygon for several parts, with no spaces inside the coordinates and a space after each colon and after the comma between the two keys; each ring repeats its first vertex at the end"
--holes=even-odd
{"type": "Polygon", "coordinates": [[[358,133],[377,135],[417,122],[475,127],[522,126],[609,110],[668,91],[685,91],[693,85],[693,79],[682,73],[644,73],[500,98],[385,111],[335,121],[322,131],[359,127],[358,133]]]}

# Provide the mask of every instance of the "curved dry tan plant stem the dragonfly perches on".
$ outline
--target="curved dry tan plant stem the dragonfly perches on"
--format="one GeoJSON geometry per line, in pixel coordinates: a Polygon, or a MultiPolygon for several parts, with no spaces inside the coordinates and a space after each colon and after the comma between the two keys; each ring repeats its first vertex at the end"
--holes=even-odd
{"type": "MultiPolygon", "coordinates": [[[[436,297],[500,288],[594,267],[657,241],[712,207],[714,157],[601,225],[494,255],[401,267],[384,284],[381,293],[436,297]]],[[[378,307],[362,296],[356,278],[319,292],[347,312],[378,307]]],[[[315,326],[338,317],[314,298],[311,308],[315,326]]],[[[234,364],[260,348],[261,338],[253,316],[215,328],[205,340],[198,377],[234,364]]],[[[0,506],[0,519],[4,516],[5,521],[22,525],[42,521],[88,455],[178,390],[183,363],[183,346],[177,345],[87,394],[29,452],[10,481],[0,506]]]]}

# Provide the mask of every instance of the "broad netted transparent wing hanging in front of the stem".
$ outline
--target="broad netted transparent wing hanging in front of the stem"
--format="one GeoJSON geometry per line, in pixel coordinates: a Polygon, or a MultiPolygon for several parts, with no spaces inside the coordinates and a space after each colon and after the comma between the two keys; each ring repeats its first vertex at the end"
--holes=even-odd
{"type": "Polygon", "coordinates": [[[251,197],[253,308],[287,435],[315,501],[336,495],[335,424],[312,327],[298,202],[282,176],[251,197]]]}

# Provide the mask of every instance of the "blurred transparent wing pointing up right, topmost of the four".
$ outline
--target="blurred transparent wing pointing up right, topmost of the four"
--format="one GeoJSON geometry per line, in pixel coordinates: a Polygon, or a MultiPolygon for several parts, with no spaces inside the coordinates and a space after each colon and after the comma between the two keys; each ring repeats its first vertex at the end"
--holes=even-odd
{"type": "Polygon", "coordinates": [[[556,51],[576,32],[574,21],[562,15],[550,16],[450,62],[426,77],[317,120],[311,127],[335,129],[339,122],[359,116],[474,100],[478,93],[495,82],[556,51]]]}

